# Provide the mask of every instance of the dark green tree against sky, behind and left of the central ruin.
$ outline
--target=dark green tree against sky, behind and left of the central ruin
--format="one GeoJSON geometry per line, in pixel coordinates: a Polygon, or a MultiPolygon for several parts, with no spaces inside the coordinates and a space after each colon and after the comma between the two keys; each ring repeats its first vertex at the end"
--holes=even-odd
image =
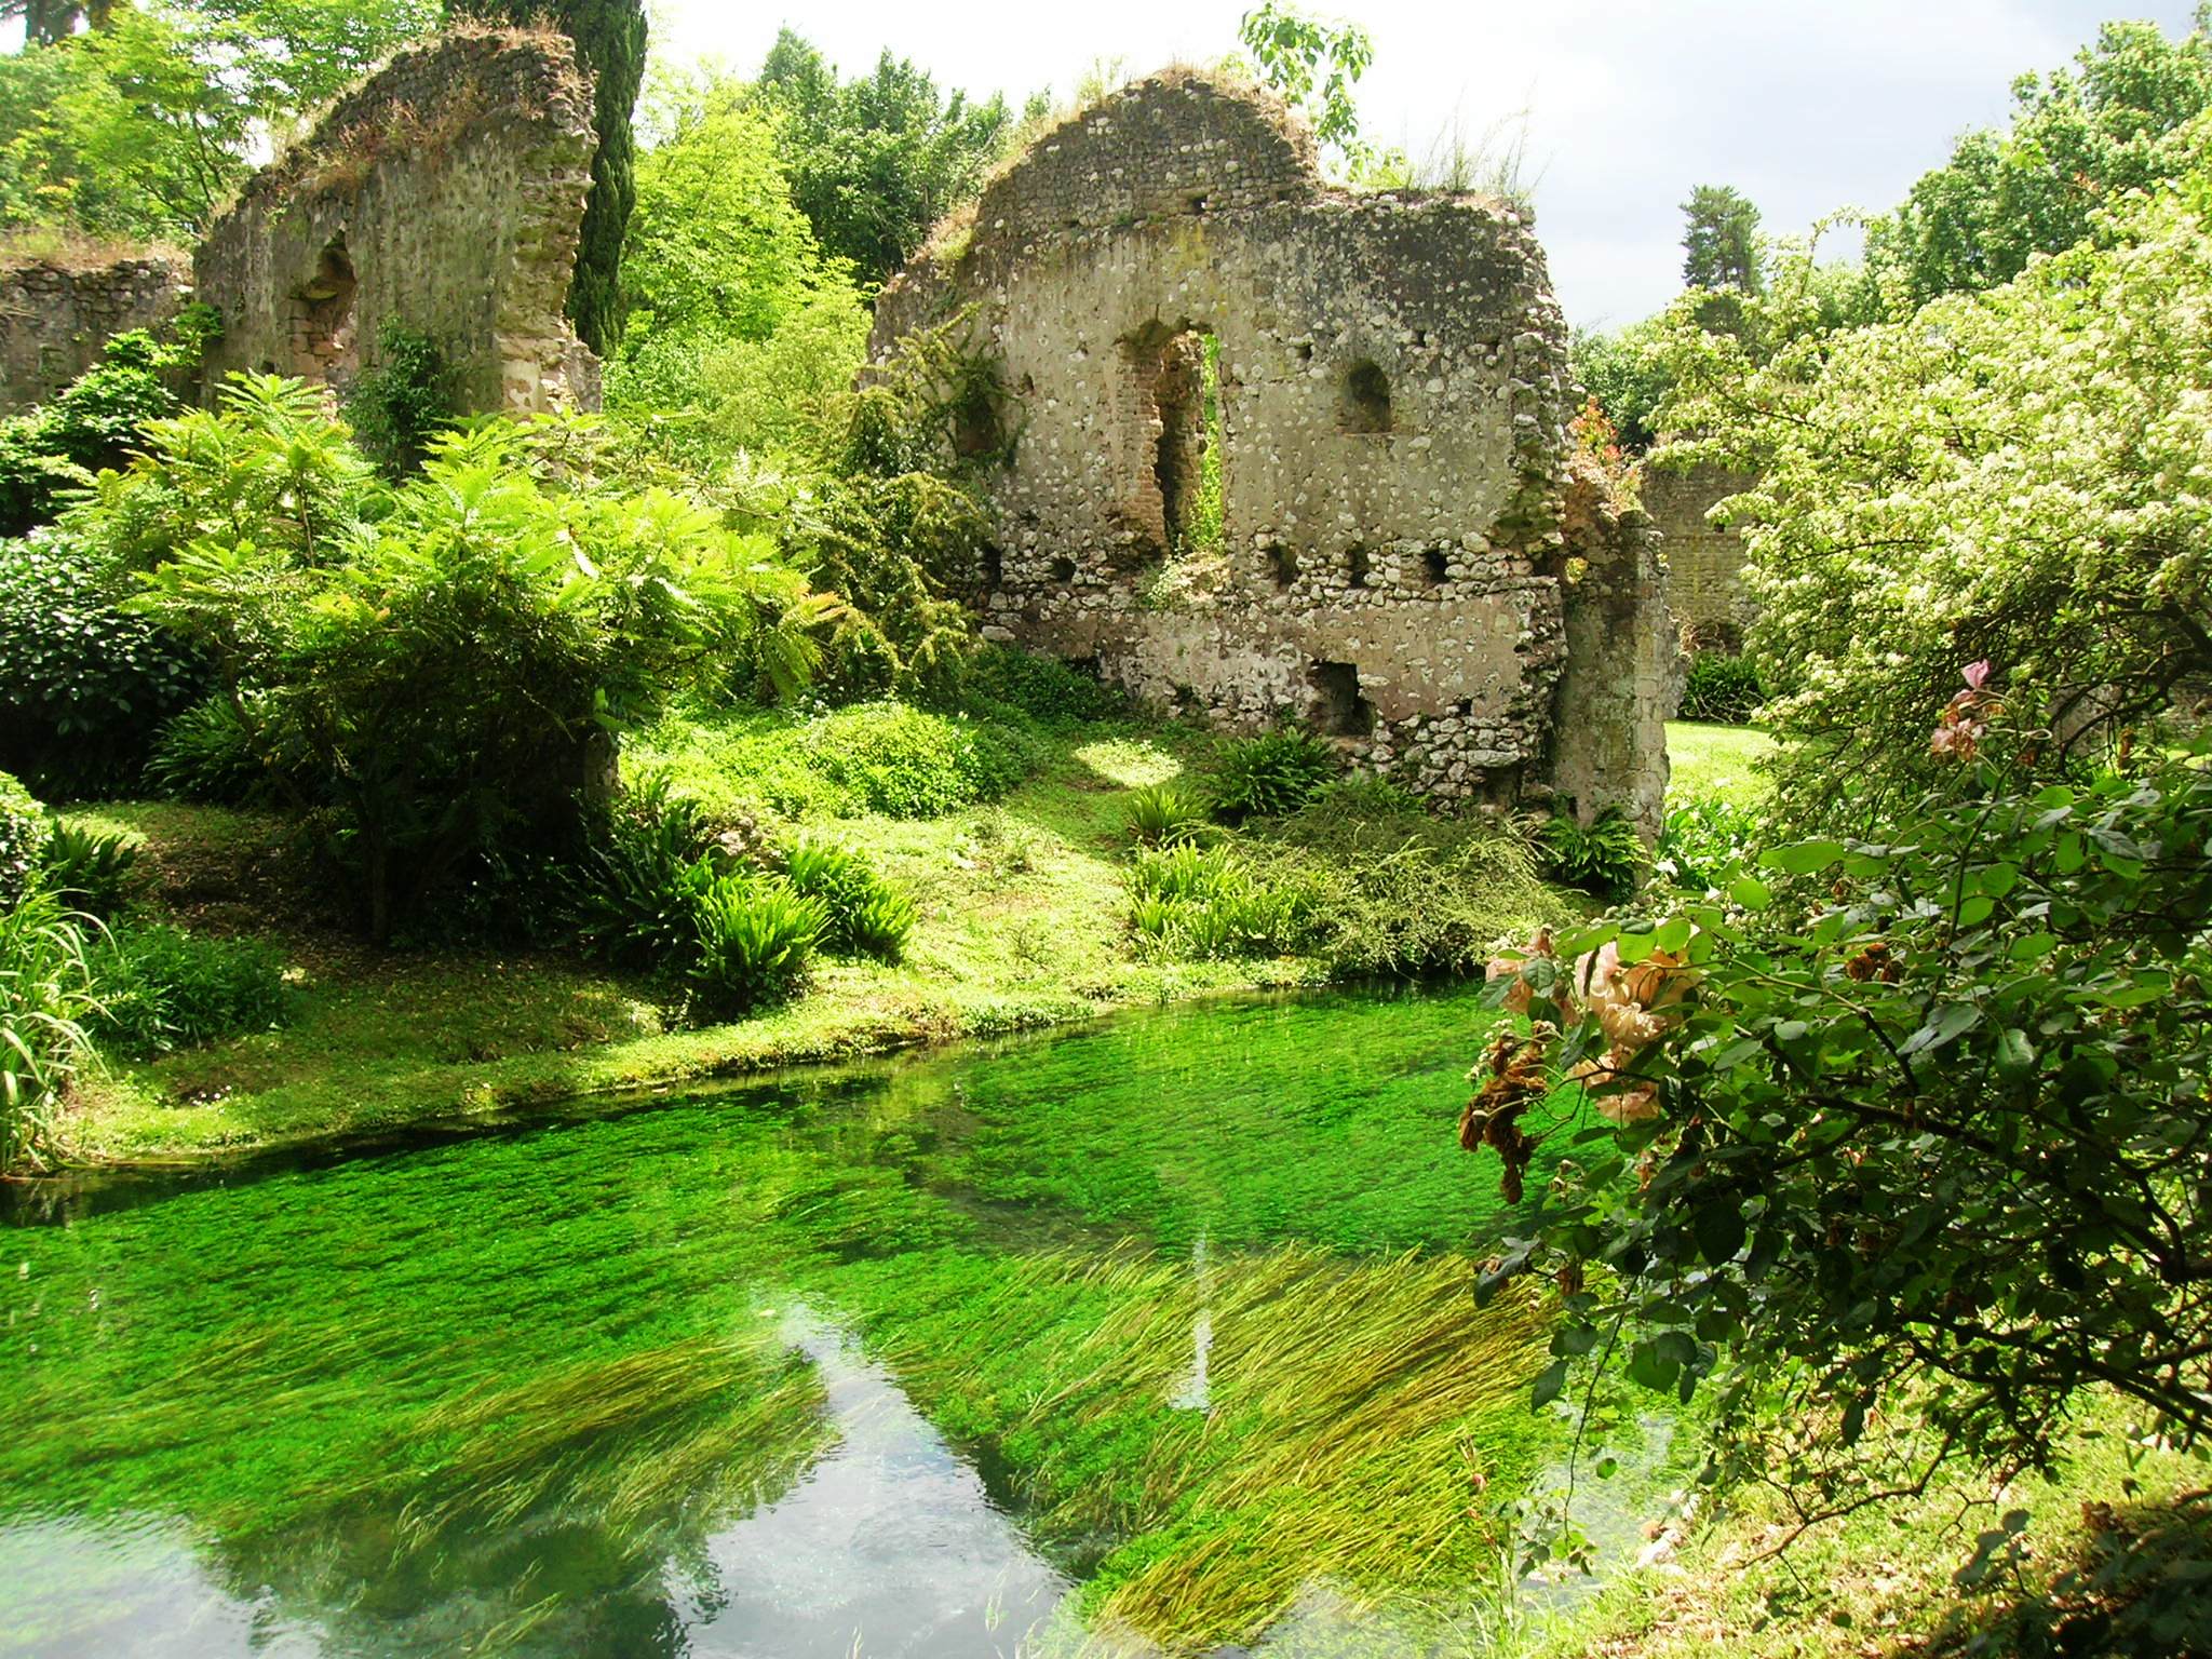
{"type": "Polygon", "coordinates": [[[761,64],[761,104],[783,124],[792,201],[830,259],[880,283],[931,226],[982,188],[1013,135],[1006,100],[940,93],[916,64],[876,60],[841,82],[818,49],[785,29],[761,64]]]}

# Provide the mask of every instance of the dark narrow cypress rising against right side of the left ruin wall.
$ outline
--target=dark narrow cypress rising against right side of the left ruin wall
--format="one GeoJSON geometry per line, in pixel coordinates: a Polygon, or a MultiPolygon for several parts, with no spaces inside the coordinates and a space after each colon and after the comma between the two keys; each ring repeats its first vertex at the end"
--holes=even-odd
{"type": "Polygon", "coordinates": [[[599,150],[591,157],[584,234],[568,281],[568,321],[602,356],[622,338],[622,237],[637,206],[637,137],[630,115],[646,80],[644,0],[447,0],[447,15],[482,22],[551,22],[575,42],[591,73],[591,124],[599,150]]]}

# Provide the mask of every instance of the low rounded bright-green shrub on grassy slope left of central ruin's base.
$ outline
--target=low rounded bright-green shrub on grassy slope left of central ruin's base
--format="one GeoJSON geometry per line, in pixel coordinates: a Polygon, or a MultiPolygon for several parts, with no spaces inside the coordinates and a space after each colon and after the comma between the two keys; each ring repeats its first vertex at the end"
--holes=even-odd
{"type": "Polygon", "coordinates": [[[1020,737],[960,714],[863,703],[805,732],[810,761],[865,812],[942,818],[995,801],[1033,770],[1020,737]]]}

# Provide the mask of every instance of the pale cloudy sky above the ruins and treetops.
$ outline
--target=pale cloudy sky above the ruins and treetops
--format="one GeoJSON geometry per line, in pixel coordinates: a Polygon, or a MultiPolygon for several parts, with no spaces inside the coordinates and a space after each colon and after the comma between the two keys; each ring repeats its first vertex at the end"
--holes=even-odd
{"type": "MultiPolygon", "coordinates": [[[[1237,44],[1245,0],[657,0],[659,44],[754,71],[790,22],[843,71],[889,46],[945,86],[1066,95],[1095,60],[1137,73],[1237,44]]],[[[1577,325],[1644,316],[1681,281],[1679,204],[1732,184],[1770,232],[1843,206],[1887,208],[1951,139],[2004,117],[2008,86],[2104,18],[2188,29],[2190,0],[1316,0],[1356,18],[1376,62],[1371,137],[1420,155],[1526,111],[1537,232],[1577,325]]]]}

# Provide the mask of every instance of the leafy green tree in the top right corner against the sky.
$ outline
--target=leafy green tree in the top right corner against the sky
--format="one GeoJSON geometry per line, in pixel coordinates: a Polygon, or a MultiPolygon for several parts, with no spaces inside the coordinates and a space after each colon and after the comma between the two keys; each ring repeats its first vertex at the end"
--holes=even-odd
{"type": "Polygon", "coordinates": [[[1958,142],[1867,228],[1867,259],[1907,307],[1993,288],[2035,254],[2073,248],[2130,190],[2194,164],[2190,122],[2212,106],[2205,9],[2181,40],[2148,22],[2106,24],[2070,71],[2022,75],[2013,124],[1958,142]]]}

